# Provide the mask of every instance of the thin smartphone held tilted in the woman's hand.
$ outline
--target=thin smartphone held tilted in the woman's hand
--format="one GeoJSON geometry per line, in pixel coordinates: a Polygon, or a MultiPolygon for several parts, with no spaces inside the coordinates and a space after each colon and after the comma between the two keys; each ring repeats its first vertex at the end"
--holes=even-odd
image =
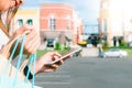
{"type": "Polygon", "coordinates": [[[57,59],[55,59],[55,61],[53,61],[53,62],[51,62],[51,63],[48,63],[46,65],[53,65],[53,64],[55,64],[55,63],[57,63],[57,62],[59,62],[62,59],[65,59],[68,56],[74,55],[75,53],[79,53],[80,51],[81,51],[81,48],[74,48],[74,50],[69,51],[68,53],[64,54],[62,57],[59,57],[59,58],[57,58],[57,59]]]}

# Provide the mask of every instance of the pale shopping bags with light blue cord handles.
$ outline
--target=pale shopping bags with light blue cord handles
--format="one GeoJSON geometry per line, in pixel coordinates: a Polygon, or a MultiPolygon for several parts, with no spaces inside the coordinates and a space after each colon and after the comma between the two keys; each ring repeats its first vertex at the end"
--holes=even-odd
{"type": "MultiPolygon", "coordinates": [[[[34,86],[34,81],[35,81],[34,75],[35,74],[33,74],[32,82],[30,82],[28,80],[28,76],[24,76],[23,73],[20,72],[20,63],[21,63],[21,59],[22,59],[25,37],[26,37],[25,35],[22,36],[22,45],[21,45],[21,48],[20,48],[20,54],[19,54],[16,67],[14,67],[11,64],[11,61],[12,61],[13,54],[16,50],[16,46],[18,46],[21,37],[19,37],[19,38],[15,37],[15,38],[11,40],[8,43],[7,47],[3,47],[2,52],[0,51],[0,88],[41,88],[38,86],[34,86]],[[9,52],[9,48],[11,47],[11,45],[13,44],[13,42],[16,38],[18,38],[18,41],[14,45],[14,48],[11,52],[11,55],[10,55],[9,59],[7,59],[7,54],[8,54],[7,52],[9,52]]],[[[30,57],[31,57],[31,59],[30,59],[29,64],[33,63],[35,65],[36,55],[33,54],[30,57]]]]}

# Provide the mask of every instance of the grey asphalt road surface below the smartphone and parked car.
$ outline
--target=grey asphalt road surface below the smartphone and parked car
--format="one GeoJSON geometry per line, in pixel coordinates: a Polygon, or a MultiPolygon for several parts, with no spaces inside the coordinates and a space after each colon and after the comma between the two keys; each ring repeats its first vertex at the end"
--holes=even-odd
{"type": "Polygon", "coordinates": [[[132,88],[132,58],[74,57],[54,73],[36,75],[42,88],[132,88]]]}

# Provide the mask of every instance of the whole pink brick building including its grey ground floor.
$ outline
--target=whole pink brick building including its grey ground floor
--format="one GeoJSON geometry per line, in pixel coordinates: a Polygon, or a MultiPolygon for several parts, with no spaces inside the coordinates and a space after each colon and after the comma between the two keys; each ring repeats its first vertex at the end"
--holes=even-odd
{"type": "Polygon", "coordinates": [[[54,45],[55,42],[65,44],[67,41],[77,44],[78,36],[82,33],[82,25],[75,24],[74,9],[70,4],[44,3],[41,6],[40,19],[42,42],[46,40],[47,45],[54,45]]]}

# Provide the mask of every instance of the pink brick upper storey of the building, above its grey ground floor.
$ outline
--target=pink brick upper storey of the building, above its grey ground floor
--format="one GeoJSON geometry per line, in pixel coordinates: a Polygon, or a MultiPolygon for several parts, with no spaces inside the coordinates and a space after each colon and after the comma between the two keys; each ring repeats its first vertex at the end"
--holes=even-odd
{"type": "Polygon", "coordinates": [[[42,30],[72,30],[73,7],[63,3],[48,3],[41,7],[42,30]]]}

